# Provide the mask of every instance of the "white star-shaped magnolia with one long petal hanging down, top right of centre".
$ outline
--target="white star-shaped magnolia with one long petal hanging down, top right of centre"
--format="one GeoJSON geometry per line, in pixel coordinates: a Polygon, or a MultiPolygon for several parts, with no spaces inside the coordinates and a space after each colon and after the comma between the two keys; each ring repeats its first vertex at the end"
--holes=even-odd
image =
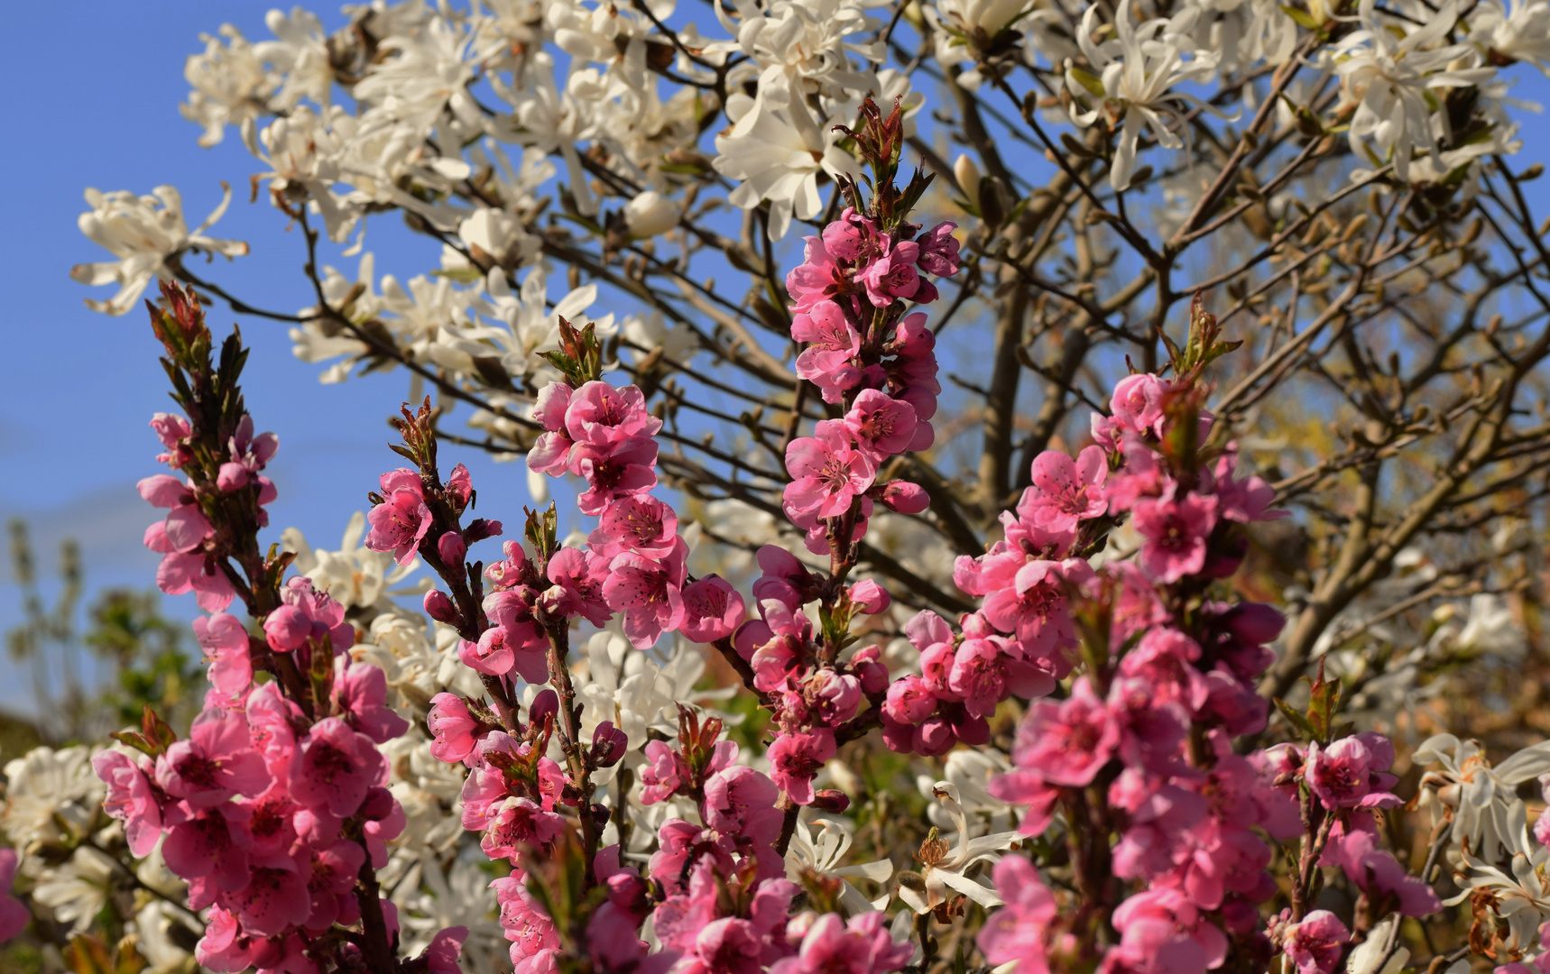
{"type": "Polygon", "coordinates": [[[1124,118],[1119,146],[1108,170],[1108,184],[1122,190],[1130,186],[1142,129],[1164,149],[1183,149],[1184,141],[1169,127],[1181,107],[1220,115],[1200,99],[1173,91],[1181,84],[1206,82],[1215,73],[1220,54],[1194,46],[1190,31],[1198,9],[1186,9],[1172,19],[1153,17],[1136,26],[1130,22],[1130,0],[1121,0],[1114,14],[1114,37],[1093,43],[1097,12],[1097,5],[1087,8],[1077,31],[1082,54],[1097,76],[1066,62],[1066,88],[1079,102],[1096,101],[1091,110],[1071,111],[1071,121],[1077,125],[1091,125],[1099,111],[1107,111],[1113,119],[1124,118]]]}

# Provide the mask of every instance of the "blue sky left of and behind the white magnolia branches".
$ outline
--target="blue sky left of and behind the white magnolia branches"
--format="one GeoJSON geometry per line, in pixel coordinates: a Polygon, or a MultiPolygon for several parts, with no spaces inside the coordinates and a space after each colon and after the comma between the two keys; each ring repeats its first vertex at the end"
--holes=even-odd
{"type": "MultiPolygon", "coordinates": [[[[91,588],[149,585],[155,556],[141,544],[153,517],[133,491],[157,472],[155,440],[146,426],[167,409],[155,342],[143,313],[105,317],[85,308],[87,288],[68,279],[73,263],[102,252],[76,229],[87,186],[149,192],[170,183],[183,192],[189,225],[220,200],[220,180],[237,198],[217,237],[251,245],[251,256],[214,269],[234,293],[259,304],[296,310],[307,304],[299,234],[260,200],[246,203],[246,177],[259,164],[236,132],[209,150],[195,144],[198,129],[178,115],[188,93],[184,57],[198,50],[198,34],[222,20],[250,39],[267,36],[271,2],[130,0],[48,5],[0,5],[8,39],[0,85],[12,96],[0,104],[0,124],[11,150],[0,169],[11,187],[0,243],[0,285],[6,296],[5,352],[0,355],[0,520],[25,517],[45,571],[65,536],[81,540],[91,588]]],[[[316,8],[330,26],[336,12],[316,8]]],[[[1519,96],[1550,101],[1550,85],[1519,70],[1519,96]]],[[[1521,164],[1545,158],[1544,125],[1525,125],[1528,146],[1521,164]]],[[[1550,180],[1547,180],[1550,183],[1550,180]]],[[[1544,198],[1544,190],[1541,190],[1544,198]]],[[[367,237],[378,274],[408,277],[436,265],[436,251],[409,242],[380,221],[367,237]]],[[[355,260],[335,260],[353,277],[355,260]]],[[[91,291],[105,297],[110,290],[91,291]]],[[[231,314],[215,308],[225,327],[231,314]]],[[[395,460],[386,417],[408,392],[400,372],[369,379],[369,390],[321,386],[318,369],[290,353],[284,325],[248,322],[253,353],[248,406],[259,429],[276,430],[281,451],[271,475],[279,500],[274,528],[302,528],[313,544],[335,547],[350,513],[364,506],[377,474],[395,460]],[[305,499],[305,500],[302,500],[305,499]]],[[[493,465],[482,455],[459,457],[474,471],[488,516],[513,520],[527,502],[519,468],[493,465]],[[494,503],[490,503],[494,502],[494,503]]],[[[277,531],[276,531],[277,534],[277,531]]],[[[20,619],[20,593],[0,570],[0,630],[20,619]]],[[[191,616],[192,599],[166,599],[169,613],[191,616]]],[[[0,660],[0,708],[26,709],[23,680],[0,660]]]]}

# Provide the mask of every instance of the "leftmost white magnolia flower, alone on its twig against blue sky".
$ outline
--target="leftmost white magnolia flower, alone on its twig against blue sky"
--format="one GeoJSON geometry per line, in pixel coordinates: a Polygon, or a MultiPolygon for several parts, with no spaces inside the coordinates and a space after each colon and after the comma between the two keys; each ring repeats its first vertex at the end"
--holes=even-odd
{"type": "Polygon", "coordinates": [[[70,268],[70,277],[85,285],[116,283],[118,294],[108,300],[87,299],[87,307],[105,314],[124,314],[135,307],[152,277],[170,280],[167,260],[183,251],[205,251],[223,257],[239,257],[248,252],[240,240],[215,240],[208,231],[226,212],[231,189],[226,187],[220,206],[189,232],[183,220],[183,197],[172,186],[158,186],[149,197],[136,197],[127,190],[85,192],[90,212],[76,221],[88,240],[104,248],[118,260],[78,263],[70,268]]]}

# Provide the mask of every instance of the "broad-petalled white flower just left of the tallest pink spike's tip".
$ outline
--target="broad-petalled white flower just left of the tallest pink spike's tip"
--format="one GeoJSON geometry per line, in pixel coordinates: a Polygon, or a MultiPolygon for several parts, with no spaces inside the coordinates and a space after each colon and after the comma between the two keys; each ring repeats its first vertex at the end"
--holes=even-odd
{"type": "Polygon", "coordinates": [[[727,116],[735,116],[736,124],[716,136],[716,172],[741,180],[727,197],[733,206],[753,209],[760,200],[769,201],[770,240],[786,235],[794,215],[811,220],[823,209],[820,172],[831,177],[860,172],[854,156],[835,146],[832,125],[820,125],[800,104],[778,111],[763,91],[752,101],[738,94],[728,99],[727,116]]]}

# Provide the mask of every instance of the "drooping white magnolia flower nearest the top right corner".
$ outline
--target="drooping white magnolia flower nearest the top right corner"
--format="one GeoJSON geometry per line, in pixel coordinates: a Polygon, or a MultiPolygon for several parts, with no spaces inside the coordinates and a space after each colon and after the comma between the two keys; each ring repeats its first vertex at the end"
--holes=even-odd
{"type": "MultiPolygon", "coordinates": [[[[1431,156],[1442,152],[1437,141],[1445,133],[1434,132],[1434,91],[1483,84],[1496,68],[1459,67],[1477,63],[1479,51],[1468,43],[1442,43],[1459,17],[1454,2],[1403,39],[1390,33],[1390,22],[1376,20],[1375,0],[1362,0],[1356,15],[1362,29],[1342,37],[1331,59],[1344,101],[1356,105],[1348,133],[1352,152],[1392,161],[1395,175],[1409,180],[1417,150],[1431,156]]],[[[1445,124],[1446,113],[1437,121],[1445,124]]]]}

